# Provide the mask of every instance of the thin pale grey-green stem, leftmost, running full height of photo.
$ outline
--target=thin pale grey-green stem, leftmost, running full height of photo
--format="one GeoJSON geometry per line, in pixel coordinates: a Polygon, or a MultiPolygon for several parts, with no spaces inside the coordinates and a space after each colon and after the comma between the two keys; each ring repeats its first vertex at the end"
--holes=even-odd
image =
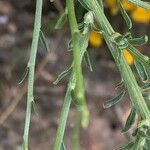
{"type": "Polygon", "coordinates": [[[28,92],[27,92],[27,108],[26,108],[25,128],[24,128],[24,136],[23,136],[23,140],[24,140],[23,149],[24,150],[28,150],[31,109],[32,109],[32,102],[34,101],[33,87],[34,87],[35,60],[36,60],[36,54],[37,54],[39,33],[40,33],[40,28],[41,28],[42,3],[43,3],[42,0],[36,1],[33,39],[32,39],[32,45],[31,45],[30,59],[28,63],[29,77],[28,77],[28,92]]]}

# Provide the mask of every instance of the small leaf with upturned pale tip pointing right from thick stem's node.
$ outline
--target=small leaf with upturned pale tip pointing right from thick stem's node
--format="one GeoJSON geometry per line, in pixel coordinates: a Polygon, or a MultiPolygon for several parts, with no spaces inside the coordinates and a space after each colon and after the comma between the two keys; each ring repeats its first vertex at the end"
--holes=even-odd
{"type": "Polygon", "coordinates": [[[148,42],[148,36],[144,35],[140,38],[128,39],[128,41],[134,46],[145,45],[148,42]]]}

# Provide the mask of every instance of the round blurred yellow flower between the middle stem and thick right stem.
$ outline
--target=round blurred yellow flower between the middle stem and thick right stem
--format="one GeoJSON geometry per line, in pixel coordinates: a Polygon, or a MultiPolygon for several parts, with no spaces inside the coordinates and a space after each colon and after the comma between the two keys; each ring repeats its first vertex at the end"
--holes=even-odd
{"type": "Polygon", "coordinates": [[[100,47],[103,44],[103,37],[100,33],[92,31],[89,37],[89,44],[93,47],[100,47]]]}

